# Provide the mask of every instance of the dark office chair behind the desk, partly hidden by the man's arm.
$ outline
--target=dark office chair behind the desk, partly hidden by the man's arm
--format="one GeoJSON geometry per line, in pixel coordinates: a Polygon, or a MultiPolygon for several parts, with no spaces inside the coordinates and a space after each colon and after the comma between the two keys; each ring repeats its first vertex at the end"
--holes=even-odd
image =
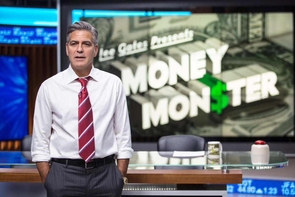
{"type": "MultiPolygon", "coordinates": [[[[31,160],[31,144],[32,144],[32,135],[26,135],[23,137],[21,142],[21,152],[22,156],[26,159],[31,160]]],[[[10,168],[37,168],[36,165],[10,165],[10,168]]]]}

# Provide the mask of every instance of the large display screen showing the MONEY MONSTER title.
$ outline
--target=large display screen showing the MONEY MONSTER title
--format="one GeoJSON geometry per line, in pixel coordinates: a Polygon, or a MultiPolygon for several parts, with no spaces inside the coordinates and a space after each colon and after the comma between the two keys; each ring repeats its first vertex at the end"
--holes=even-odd
{"type": "Polygon", "coordinates": [[[294,137],[293,13],[80,20],[99,33],[94,67],[123,82],[132,137],[294,137]]]}

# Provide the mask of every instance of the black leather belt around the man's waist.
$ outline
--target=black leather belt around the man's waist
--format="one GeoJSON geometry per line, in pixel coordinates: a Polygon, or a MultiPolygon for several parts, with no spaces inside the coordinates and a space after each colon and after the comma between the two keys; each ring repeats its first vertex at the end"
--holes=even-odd
{"type": "Polygon", "coordinates": [[[51,159],[53,162],[65,164],[65,165],[70,165],[70,166],[77,166],[77,167],[85,167],[86,169],[88,168],[93,168],[97,166],[102,166],[107,163],[112,163],[114,162],[114,155],[110,155],[104,158],[98,158],[98,159],[91,159],[89,160],[88,163],[86,163],[83,159],[60,159],[60,158],[52,158],[51,159]]]}

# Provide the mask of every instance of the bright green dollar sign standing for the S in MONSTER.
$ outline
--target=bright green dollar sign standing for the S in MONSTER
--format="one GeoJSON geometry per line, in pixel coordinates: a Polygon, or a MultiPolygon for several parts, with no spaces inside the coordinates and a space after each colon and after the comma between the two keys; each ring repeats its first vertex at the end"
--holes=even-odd
{"type": "Polygon", "coordinates": [[[211,111],[216,111],[217,114],[221,114],[222,109],[228,104],[228,97],[222,91],[226,91],[226,84],[221,81],[217,81],[210,91],[211,98],[215,101],[211,103],[211,111]]]}

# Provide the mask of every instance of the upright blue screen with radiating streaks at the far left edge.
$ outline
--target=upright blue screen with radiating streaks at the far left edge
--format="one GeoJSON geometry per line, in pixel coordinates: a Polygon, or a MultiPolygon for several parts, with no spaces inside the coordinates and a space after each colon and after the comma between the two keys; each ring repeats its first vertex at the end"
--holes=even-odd
{"type": "Polygon", "coordinates": [[[28,135],[27,57],[0,55],[0,141],[28,135]]]}

